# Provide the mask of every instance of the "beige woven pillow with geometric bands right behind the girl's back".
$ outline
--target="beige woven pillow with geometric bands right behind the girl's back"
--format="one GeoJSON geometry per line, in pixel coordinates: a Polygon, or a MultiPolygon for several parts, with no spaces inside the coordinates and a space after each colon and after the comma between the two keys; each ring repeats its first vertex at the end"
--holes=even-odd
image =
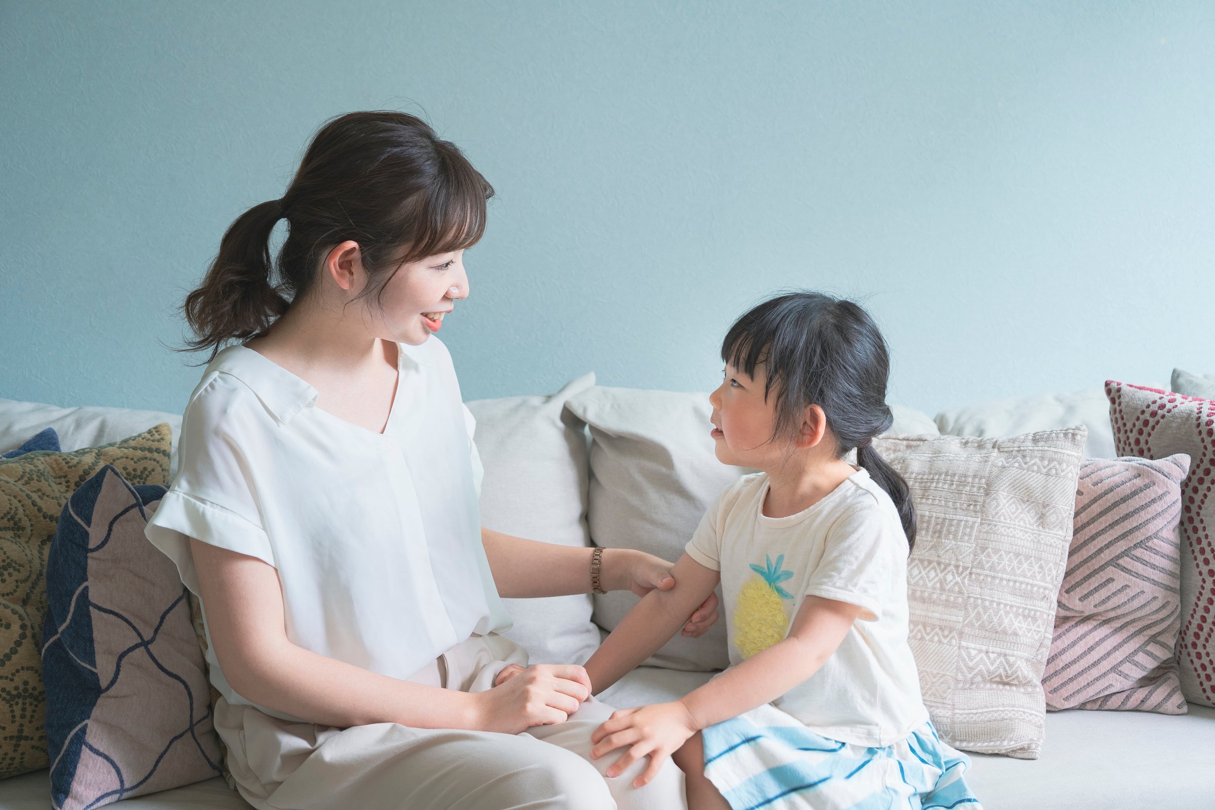
{"type": "Polygon", "coordinates": [[[1074,427],[874,443],[911,488],[911,651],[925,706],[957,748],[1024,759],[1041,749],[1041,679],[1084,436],[1074,427]]]}

